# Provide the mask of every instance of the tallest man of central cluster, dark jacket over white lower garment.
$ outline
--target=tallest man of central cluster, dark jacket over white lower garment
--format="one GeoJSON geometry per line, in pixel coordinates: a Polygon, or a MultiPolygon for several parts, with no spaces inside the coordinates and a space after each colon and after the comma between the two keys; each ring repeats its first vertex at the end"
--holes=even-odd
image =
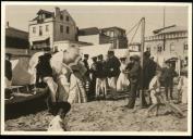
{"type": "Polygon", "coordinates": [[[114,55],[113,51],[108,51],[108,59],[106,61],[106,70],[108,76],[108,85],[111,89],[112,94],[117,91],[117,80],[120,74],[121,63],[119,59],[114,55]]]}

